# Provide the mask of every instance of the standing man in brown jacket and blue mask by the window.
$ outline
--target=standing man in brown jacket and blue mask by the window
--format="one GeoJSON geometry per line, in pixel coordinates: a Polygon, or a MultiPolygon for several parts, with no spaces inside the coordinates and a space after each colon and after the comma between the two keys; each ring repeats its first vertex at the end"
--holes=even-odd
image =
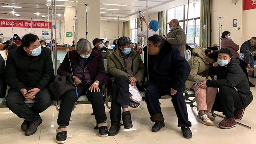
{"type": "Polygon", "coordinates": [[[172,44],[173,47],[178,48],[180,55],[185,57],[186,51],[186,34],[185,31],[179,26],[179,20],[173,19],[169,24],[170,32],[167,37],[163,36],[166,41],[172,44]]]}

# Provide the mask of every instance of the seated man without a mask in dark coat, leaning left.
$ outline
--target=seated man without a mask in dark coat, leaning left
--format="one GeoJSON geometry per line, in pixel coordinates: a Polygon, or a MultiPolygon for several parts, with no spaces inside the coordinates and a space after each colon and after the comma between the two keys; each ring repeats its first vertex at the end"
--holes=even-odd
{"type": "Polygon", "coordinates": [[[173,48],[159,35],[148,38],[148,45],[144,51],[146,67],[148,51],[149,75],[148,82],[145,84],[145,95],[148,112],[151,116],[150,120],[155,122],[151,130],[156,132],[165,126],[159,99],[163,95],[171,95],[178,117],[178,127],[181,127],[185,138],[191,138],[192,133],[189,129],[191,122],[188,120],[187,107],[183,97],[185,82],[190,73],[189,64],[180,55],[177,48],[173,48]]]}

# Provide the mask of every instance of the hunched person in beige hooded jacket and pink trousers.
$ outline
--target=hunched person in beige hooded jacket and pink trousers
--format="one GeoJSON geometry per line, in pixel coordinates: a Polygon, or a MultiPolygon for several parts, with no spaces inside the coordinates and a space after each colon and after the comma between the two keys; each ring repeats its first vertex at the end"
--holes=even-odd
{"type": "Polygon", "coordinates": [[[202,89],[200,82],[208,80],[211,59],[204,54],[204,49],[196,46],[193,50],[193,57],[189,59],[191,71],[186,81],[186,89],[195,90],[197,101],[197,120],[206,126],[213,126],[215,118],[210,115],[211,108],[215,101],[217,88],[202,89]]]}

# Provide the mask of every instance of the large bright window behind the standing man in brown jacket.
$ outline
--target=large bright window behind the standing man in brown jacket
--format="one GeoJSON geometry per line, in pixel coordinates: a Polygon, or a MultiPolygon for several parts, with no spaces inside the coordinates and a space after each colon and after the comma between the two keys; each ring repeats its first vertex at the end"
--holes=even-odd
{"type": "MultiPolygon", "coordinates": [[[[173,7],[167,10],[167,33],[169,32],[169,23],[172,19],[176,18],[179,20],[179,25],[184,29],[186,33],[187,26],[187,43],[199,45],[200,36],[200,0],[197,0],[195,5],[195,11],[193,2],[189,3],[189,15],[188,15],[188,26],[187,26],[187,4],[173,7]]],[[[166,34],[167,34],[166,33],[166,34]]]]}

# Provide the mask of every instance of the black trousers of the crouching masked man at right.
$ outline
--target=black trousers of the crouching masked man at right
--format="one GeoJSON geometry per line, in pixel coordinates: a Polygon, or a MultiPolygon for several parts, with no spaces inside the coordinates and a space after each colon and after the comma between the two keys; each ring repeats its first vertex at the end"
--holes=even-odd
{"type": "Polygon", "coordinates": [[[233,108],[245,109],[248,105],[248,98],[239,94],[234,88],[223,86],[219,87],[212,109],[223,112],[227,118],[234,118],[233,108]]]}

